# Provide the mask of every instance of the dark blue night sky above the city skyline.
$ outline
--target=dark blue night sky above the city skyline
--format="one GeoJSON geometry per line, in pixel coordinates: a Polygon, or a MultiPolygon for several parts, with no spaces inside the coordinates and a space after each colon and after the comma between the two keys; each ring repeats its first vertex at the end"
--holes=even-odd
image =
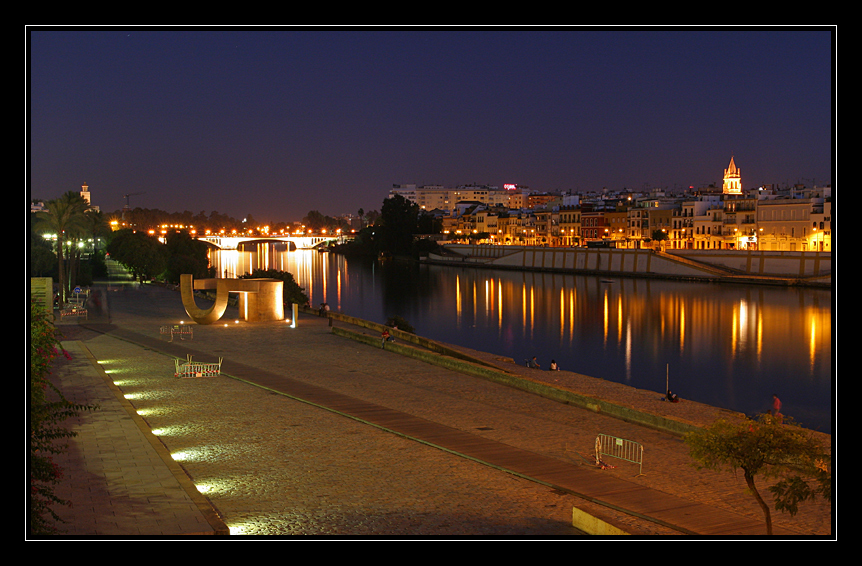
{"type": "Polygon", "coordinates": [[[832,29],[28,29],[29,197],[269,222],[393,183],[832,182],[832,29]]]}

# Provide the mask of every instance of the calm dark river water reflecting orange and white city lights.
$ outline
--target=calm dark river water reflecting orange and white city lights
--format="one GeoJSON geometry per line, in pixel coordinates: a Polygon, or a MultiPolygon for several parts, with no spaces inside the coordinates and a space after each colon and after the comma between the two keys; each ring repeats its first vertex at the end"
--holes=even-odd
{"type": "Polygon", "coordinates": [[[832,292],[346,259],[309,250],[214,252],[219,276],[293,274],[312,306],[513,358],[832,433],[832,292]]]}

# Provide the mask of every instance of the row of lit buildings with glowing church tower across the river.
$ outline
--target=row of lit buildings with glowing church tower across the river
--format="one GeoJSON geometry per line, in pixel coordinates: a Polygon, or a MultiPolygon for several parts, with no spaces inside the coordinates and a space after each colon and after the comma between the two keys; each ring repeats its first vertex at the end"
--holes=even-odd
{"type": "Polygon", "coordinates": [[[832,188],[740,188],[731,159],[725,185],[681,195],[536,193],[466,185],[393,185],[442,218],[451,239],[539,246],[832,251],[832,188]],[[730,182],[728,182],[730,181],[730,182]]]}

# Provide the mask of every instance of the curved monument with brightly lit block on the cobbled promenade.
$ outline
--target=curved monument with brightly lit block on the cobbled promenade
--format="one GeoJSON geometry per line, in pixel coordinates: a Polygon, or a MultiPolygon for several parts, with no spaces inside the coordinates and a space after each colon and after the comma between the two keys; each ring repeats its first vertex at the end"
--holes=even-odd
{"type": "Polygon", "coordinates": [[[246,321],[284,320],[284,282],[278,279],[200,279],[180,275],[180,294],[186,313],[198,324],[212,324],[224,315],[228,293],[239,293],[240,318],[246,321]],[[208,309],[195,304],[195,289],[215,289],[208,309]]]}

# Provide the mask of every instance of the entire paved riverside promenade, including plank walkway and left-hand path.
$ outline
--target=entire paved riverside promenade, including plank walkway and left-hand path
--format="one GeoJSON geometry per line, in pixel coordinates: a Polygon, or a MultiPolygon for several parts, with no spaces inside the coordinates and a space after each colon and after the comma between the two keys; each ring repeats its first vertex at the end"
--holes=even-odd
{"type": "MultiPolygon", "coordinates": [[[[160,329],[189,322],[178,291],[114,279],[90,303],[87,320],[58,321],[71,360],[58,358],[56,383],[100,407],[67,421],[78,433],[58,459],[67,536],[765,538],[741,474],[696,470],[678,434],[380,348],[329,318],[236,323],[228,309],[171,337],[160,329]],[[188,356],[221,359],[221,375],[175,377],[188,356]],[[597,467],[598,434],[643,445],[642,473],[610,457],[597,467]]],[[[464,353],[689,424],[733,416],[464,353]]],[[[782,537],[833,536],[822,501],[773,523],[782,537]]]]}

